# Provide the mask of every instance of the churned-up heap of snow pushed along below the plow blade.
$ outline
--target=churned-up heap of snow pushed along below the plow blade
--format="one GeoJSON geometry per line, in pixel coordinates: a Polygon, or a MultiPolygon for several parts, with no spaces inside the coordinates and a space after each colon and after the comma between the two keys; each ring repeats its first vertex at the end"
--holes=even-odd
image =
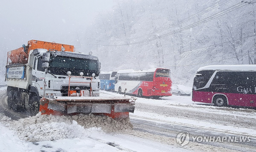
{"type": "Polygon", "coordinates": [[[13,129],[21,140],[25,141],[88,137],[92,131],[113,132],[132,128],[129,118],[114,120],[108,116],[85,114],[53,116],[41,115],[39,112],[36,116],[19,120],[0,116],[0,120],[6,127],[13,129]]]}

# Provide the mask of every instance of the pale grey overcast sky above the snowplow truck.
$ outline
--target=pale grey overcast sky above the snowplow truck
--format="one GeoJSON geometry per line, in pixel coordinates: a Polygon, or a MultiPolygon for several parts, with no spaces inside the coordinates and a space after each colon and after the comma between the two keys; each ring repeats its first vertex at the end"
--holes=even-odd
{"type": "Polygon", "coordinates": [[[95,15],[114,5],[114,0],[0,0],[0,53],[29,40],[70,44],[95,15]]]}

